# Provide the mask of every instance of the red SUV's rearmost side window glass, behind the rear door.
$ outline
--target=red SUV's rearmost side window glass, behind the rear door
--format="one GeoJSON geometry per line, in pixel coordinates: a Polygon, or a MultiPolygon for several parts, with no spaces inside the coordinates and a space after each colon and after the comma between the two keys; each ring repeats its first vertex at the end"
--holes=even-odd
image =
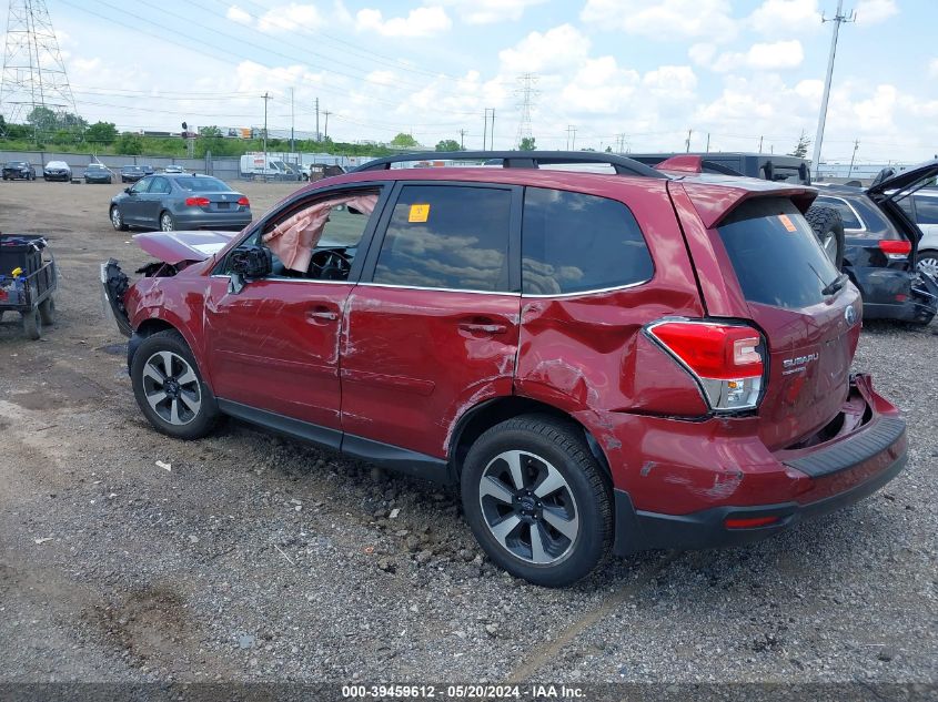
{"type": "Polygon", "coordinates": [[[650,279],[652,255],[623,203],[544,187],[524,194],[522,289],[563,295],[650,279]]]}

